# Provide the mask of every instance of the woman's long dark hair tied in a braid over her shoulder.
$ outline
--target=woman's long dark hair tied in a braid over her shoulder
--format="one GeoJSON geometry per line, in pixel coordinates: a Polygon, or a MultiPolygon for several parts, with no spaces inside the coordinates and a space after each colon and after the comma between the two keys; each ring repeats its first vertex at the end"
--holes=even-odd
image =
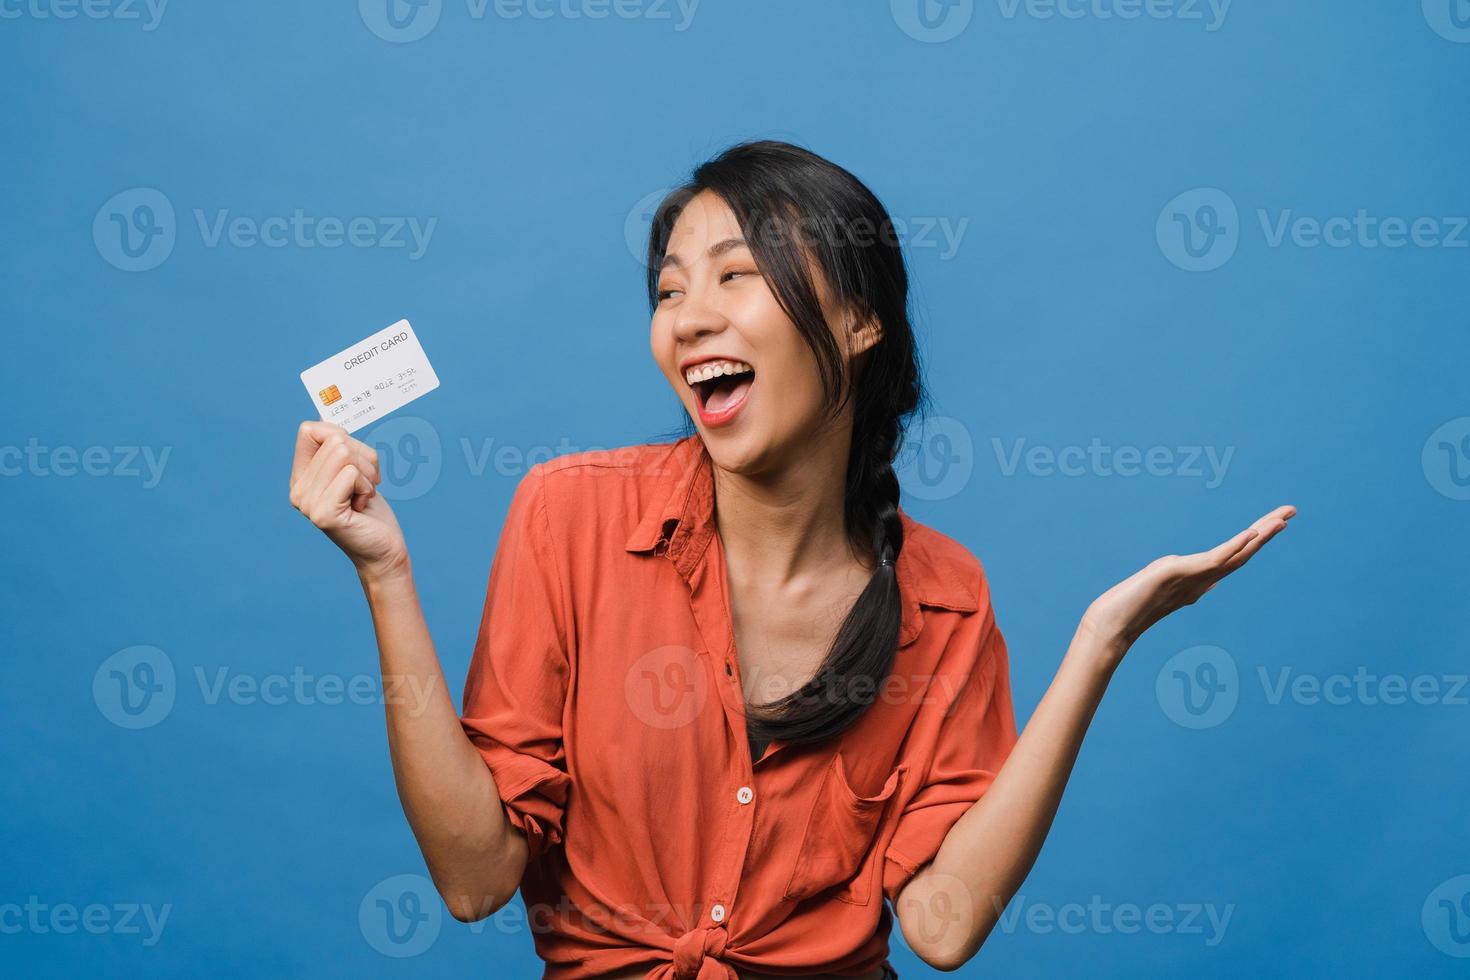
{"type": "MultiPolygon", "coordinates": [[[[819,742],[872,705],[898,652],[903,604],[897,560],[904,547],[894,458],[908,417],[925,401],[908,322],[908,273],[894,222],[867,187],[810,150],[772,140],[741,143],[700,165],[654,213],[648,238],[648,306],[659,306],[659,267],[684,206],[717,194],[735,213],[756,264],[816,356],[826,410],[853,403],[844,522],[853,547],[876,563],[811,680],[747,711],[757,738],[819,742]],[[811,264],[808,264],[811,263],[811,264]],[[882,338],[848,370],[811,278],[826,278],[838,309],[875,316],[882,338]]],[[[685,433],[695,432],[685,416],[685,433]]]]}

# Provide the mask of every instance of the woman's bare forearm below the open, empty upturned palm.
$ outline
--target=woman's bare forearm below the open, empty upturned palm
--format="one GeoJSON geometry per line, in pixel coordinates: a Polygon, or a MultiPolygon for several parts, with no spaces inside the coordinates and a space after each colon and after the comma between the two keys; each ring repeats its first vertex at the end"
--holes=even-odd
{"type": "Polygon", "coordinates": [[[1119,660],[1117,644],[1078,627],[1001,771],[901,892],[904,939],[929,965],[956,970],[973,956],[1026,880],[1119,660]]]}

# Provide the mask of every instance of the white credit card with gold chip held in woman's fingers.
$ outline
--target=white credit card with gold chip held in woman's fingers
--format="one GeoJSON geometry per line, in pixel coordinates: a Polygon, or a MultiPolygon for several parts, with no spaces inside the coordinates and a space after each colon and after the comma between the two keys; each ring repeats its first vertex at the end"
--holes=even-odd
{"type": "Polygon", "coordinates": [[[440,379],[413,328],[398,320],[316,367],[307,367],[301,372],[301,383],[323,422],[356,432],[429,394],[440,386],[440,379]]]}

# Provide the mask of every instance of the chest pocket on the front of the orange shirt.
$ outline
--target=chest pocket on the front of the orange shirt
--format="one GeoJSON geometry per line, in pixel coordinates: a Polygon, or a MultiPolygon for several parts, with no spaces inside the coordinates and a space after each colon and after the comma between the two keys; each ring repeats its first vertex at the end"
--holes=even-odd
{"type": "Polygon", "coordinates": [[[870,876],[858,876],[858,871],[866,864],[885,805],[898,792],[907,768],[907,763],[895,765],[876,795],[858,796],[848,783],[842,754],[832,754],[786,882],[788,901],[800,902],[841,884],[836,898],[867,905],[870,876]]]}

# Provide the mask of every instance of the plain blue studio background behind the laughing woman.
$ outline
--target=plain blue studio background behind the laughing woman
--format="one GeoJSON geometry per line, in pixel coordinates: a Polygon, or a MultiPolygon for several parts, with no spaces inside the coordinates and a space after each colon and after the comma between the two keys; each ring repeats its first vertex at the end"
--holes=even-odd
{"type": "MultiPolygon", "coordinates": [[[[678,426],[628,232],[698,160],[776,137],[850,167],[916,228],[966,222],[953,254],[938,231],[908,241],[947,428],[906,469],[906,507],[985,563],[1019,721],[1110,583],[1299,507],[1130,652],[1013,904],[1023,917],[958,976],[1463,976],[1470,899],[1452,921],[1432,893],[1467,892],[1467,692],[1273,702],[1260,680],[1363,667],[1446,693],[1467,670],[1470,234],[1273,245],[1258,216],[1470,215],[1470,44],[1448,0],[1439,15],[1433,0],[1241,0],[1216,29],[1208,7],[1073,19],[985,0],[945,41],[903,1],[704,0],[676,29],[678,9],[653,0],[606,19],[567,16],[585,0],[542,19],[444,0],[413,43],[375,34],[372,3],[175,0],[150,31],[26,1],[0,19],[0,447],[103,447],[103,469],[123,470],[115,447],[169,457],[156,485],[0,457],[0,905],[171,912],[151,946],[0,933],[0,971],[539,974],[529,933],[500,917],[435,911],[419,955],[375,949],[365,896],[423,874],[378,704],[212,704],[196,671],[376,677],[357,580],[290,507],[287,473],[313,414],[298,372],[409,317],[442,386],[400,433],[432,432],[440,473],[395,511],[457,696],[525,470],[476,455],[678,426]],[[137,197],[109,206],[132,188],[176,215],[172,251],[141,272],[104,234],[135,215],[137,197]],[[1211,226],[1195,188],[1238,209],[1216,212],[1210,259],[1229,260],[1207,272],[1155,234],[1175,215],[1211,226]],[[410,257],[210,247],[194,216],[295,209],[437,225],[410,257]],[[1233,455],[1216,486],[1183,453],[1169,475],[1069,476],[1007,467],[1017,439],[1233,455]],[[93,682],[135,645],[176,683],[166,717],[129,730],[93,682]],[[1191,727],[1167,664],[1201,645],[1235,667],[1235,707],[1191,727]],[[1232,917],[1213,943],[1208,926],[1025,918],[1092,896],[1232,917]]],[[[931,973],[897,932],[894,962],[931,973]]]]}

